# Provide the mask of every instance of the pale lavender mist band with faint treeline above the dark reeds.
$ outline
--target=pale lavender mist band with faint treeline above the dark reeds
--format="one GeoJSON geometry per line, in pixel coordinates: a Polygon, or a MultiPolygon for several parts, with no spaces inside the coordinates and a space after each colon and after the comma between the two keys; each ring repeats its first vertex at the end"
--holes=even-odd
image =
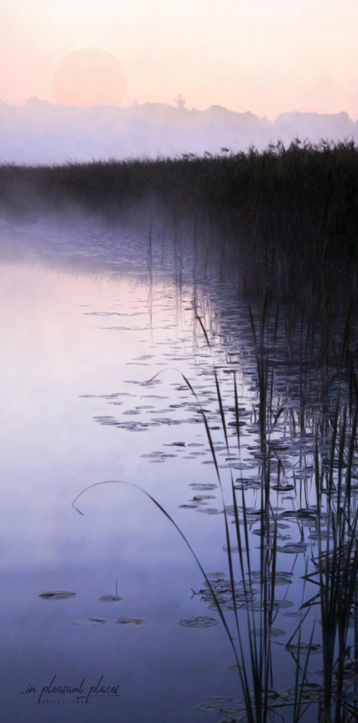
{"type": "Polygon", "coordinates": [[[346,112],[291,112],[275,121],[222,106],[205,111],[165,103],[134,103],[129,108],[79,108],[29,98],[24,106],[0,100],[0,163],[53,164],[115,158],[157,158],[185,153],[216,155],[222,148],[263,150],[295,138],[344,141],[358,136],[358,121],[346,112]]]}

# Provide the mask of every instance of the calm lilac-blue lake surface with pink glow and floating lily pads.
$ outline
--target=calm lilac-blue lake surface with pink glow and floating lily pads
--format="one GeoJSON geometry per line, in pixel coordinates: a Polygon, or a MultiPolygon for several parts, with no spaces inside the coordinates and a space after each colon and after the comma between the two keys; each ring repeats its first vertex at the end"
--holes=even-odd
{"type": "MultiPolygon", "coordinates": [[[[32,226],[3,221],[0,245],[4,721],[208,719],[198,706],[210,698],[243,697],[230,667],[235,659],[217,610],[195,594],[203,589],[201,570],[144,492],[171,515],[205,572],[228,576],[222,510],[232,505],[230,468],[234,479],[245,478],[251,531],[260,519],[258,390],[246,305],[237,301],[235,283],[219,281],[214,268],[201,278],[191,253],[178,260],[178,249],[160,234],[149,244],[148,234],[131,227],[79,219],[32,226]],[[77,500],[79,514],[72,502],[98,482],[110,484],[88,489],[77,500]],[[51,591],[75,596],[41,597],[51,591]],[[179,624],[198,616],[217,624],[179,624]],[[74,693],[51,692],[81,683],[74,693]],[[46,686],[50,692],[42,693],[46,686]],[[27,693],[31,688],[36,690],[27,693]]],[[[291,390],[295,410],[295,372],[290,378],[287,366],[282,370],[278,362],[277,388],[281,394],[291,390]]],[[[314,435],[307,430],[293,438],[289,414],[285,419],[272,438],[277,445],[287,440],[280,458],[287,482],[295,476],[296,486],[284,495],[273,492],[277,514],[313,502],[306,482],[313,475],[314,435]]],[[[227,512],[231,529],[232,510],[227,512]]],[[[308,515],[305,547],[279,557],[279,570],[288,577],[276,597],[291,612],[302,603],[314,530],[308,515]]],[[[280,544],[302,543],[301,531],[287,518],[280,544]]],[[[259,546],[260,538],[250,534],[256,569],[259,546]]],[[[284,644],[297,628],[297,617],[286,613],[279,609],[275,622],[284,644]]],[[[247,622],[239,614],[245,642],[247,622]]],[[[233,612],[226,615],[231,625],[233,612]]],[[[279,644],[277,650],[275,678],[282,688],[294,683],[294,661],[279,644]]],[[[320,682],[315,657],[312,680],[320,682]]],[[[219,723],[224,714],[211,712],[209,719],[219,723]]]]}

